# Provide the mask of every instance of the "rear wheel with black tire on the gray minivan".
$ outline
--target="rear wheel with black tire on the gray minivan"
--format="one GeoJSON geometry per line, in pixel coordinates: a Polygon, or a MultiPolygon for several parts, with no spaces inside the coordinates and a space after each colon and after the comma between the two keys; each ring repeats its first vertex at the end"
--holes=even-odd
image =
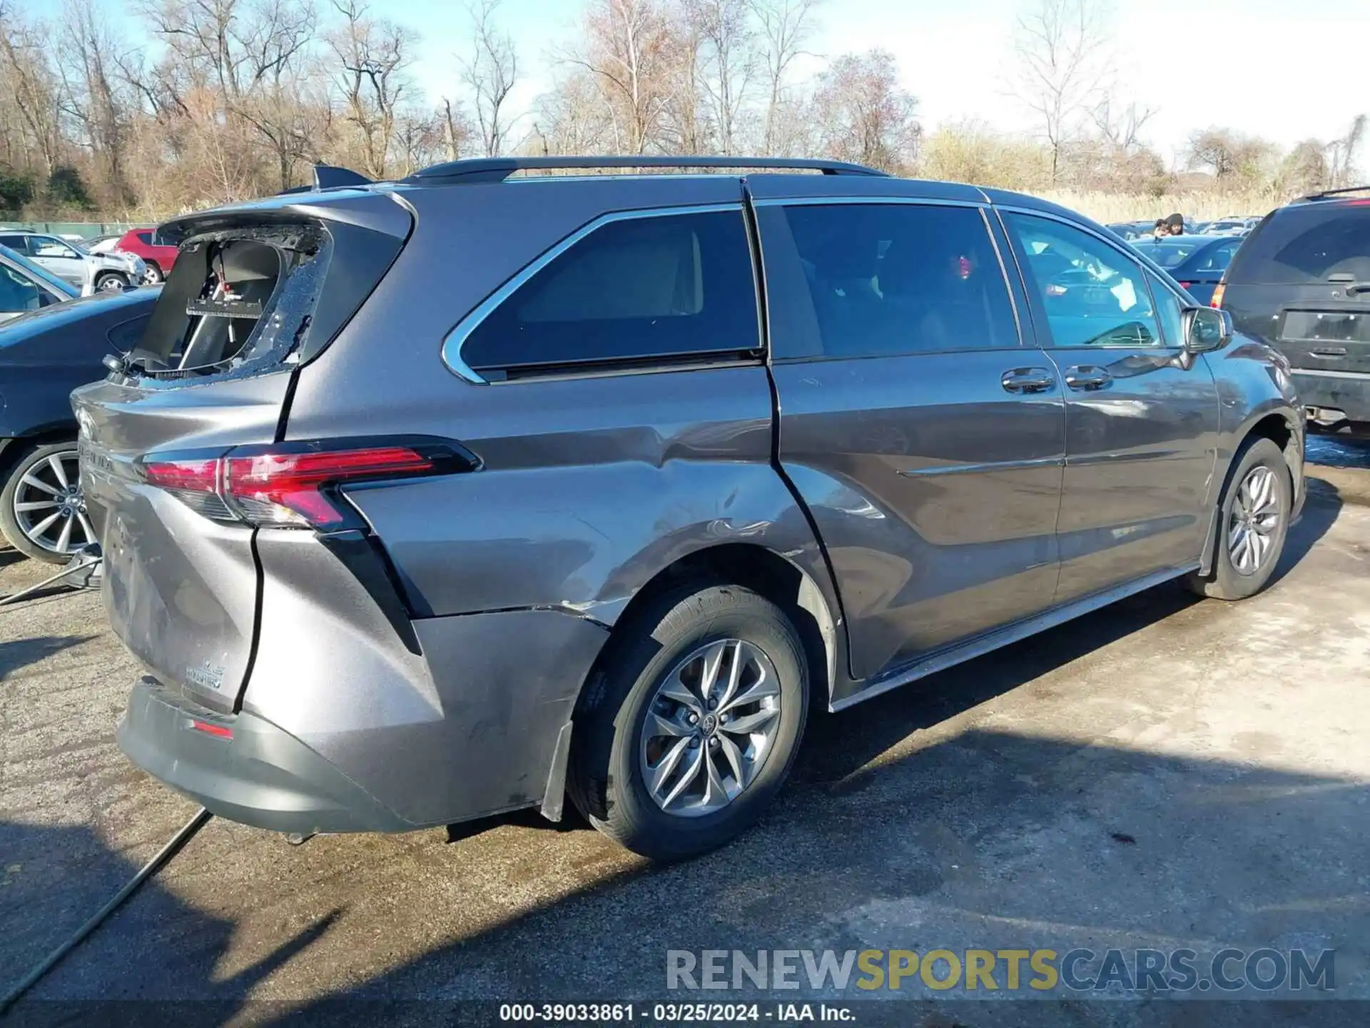
{"type": "Polygon", "coordinates": [[[696,583],[649,602],[610,646],[577,709],[571,802],[652,859],[723,846],[760,817],[799,751],[799,633],[751,589],[696,583]]]}

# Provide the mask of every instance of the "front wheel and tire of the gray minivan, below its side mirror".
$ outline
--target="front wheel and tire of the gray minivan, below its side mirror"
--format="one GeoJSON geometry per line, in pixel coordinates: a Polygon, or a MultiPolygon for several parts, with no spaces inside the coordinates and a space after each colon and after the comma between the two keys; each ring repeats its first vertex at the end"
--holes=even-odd
{"type": "Polygon", "coordinates": [[[1218,510],[1212,570],[1186,578],[1200,596],[1238,600],[1270,581],[1289,532],[1293,482],[1284,451],[1269,439],[1248,440],[1237,452],[1218,510]]]}

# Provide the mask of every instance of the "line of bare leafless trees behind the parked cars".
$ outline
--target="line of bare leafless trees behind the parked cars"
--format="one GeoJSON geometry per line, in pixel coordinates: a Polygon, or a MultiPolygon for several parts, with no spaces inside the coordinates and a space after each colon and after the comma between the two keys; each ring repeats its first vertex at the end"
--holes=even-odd
{"type": "Polygon", "coordinates": [[[415,82],[414,29],[363,0],[133,0],[151,45],[97,0],[0,3],[0,210],[158,218],[304,184],[315,163],[393,178],[510,152],[826,156],[1155,200],[1355,180],[1363,117],[1288,152],[1201,129],[1167,167],[1145,138],[1154,111],[1117,101],[1106,0],[1023,0],[1003,82],[1015,133],[925,132],[892,53],[814,52],[822,1],[586,0],[552,53],[526,55],[500,0],[470,0],[437,97],[415,82]],[[551,86],[515,110],[530,59],[551,86]]]}

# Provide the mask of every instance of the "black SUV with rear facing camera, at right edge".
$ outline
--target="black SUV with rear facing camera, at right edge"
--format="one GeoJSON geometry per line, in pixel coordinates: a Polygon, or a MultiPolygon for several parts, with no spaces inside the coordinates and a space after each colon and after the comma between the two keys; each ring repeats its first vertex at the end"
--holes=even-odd
{"type": "Polygon", "coordinates": [[[1370,430],[1370,186],[1266,215],[1214,306],[1289,358],[1310,425],[1370,430]]]}

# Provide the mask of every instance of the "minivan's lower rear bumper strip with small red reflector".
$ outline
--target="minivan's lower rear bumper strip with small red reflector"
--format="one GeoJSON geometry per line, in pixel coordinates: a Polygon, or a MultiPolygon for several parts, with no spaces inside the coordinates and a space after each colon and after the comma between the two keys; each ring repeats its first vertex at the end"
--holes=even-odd
{"type": "Polygon", "coordinates": [[[230,821],[301,835],[418,827],[270,721],[208,710],[153,678],[133,687],[118,740],[148,774],[230,821]]]}

